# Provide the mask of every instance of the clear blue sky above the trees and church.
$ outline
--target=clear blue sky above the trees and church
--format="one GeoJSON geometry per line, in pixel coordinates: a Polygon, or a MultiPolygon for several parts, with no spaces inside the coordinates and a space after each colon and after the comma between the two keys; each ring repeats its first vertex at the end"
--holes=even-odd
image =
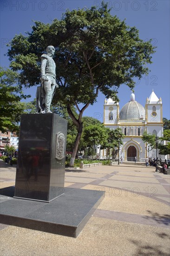
{"type": "MultiPolygon", "coordinates": [[[[169,0],[114,0],[107,1],[112,7],[111,14],[117,15],[126,24],[137,27],[140,38],[152,39],[157,46],[153,54],[153,63],[149,65],[150,73],[137,82],[135,100],[143,106],[152,89],[163,101],[163,117],[170,119],[170,1],[169,0]]],[[[9,67],[6,43],[15,34],[25,34],[31,31],[32,20],[52,23],[55,18],[60,19],[66,9],[100,6],[101,1],[92,0],[1,0],[0,1],[0,66],[9,67]]],[[[36,87],[27,89],[32,100],[35,98],[36,87]]],[[[130,100],[131,91],[121,85],[118,91],[120,109],[130,100]]],[[[29,101],[30,101],[29,100],[29,101]]],[[[103,121],[103,105],[105,96],[98,95],[98,102],[89,106],[84,115],[92,116],[103,121]]]]}

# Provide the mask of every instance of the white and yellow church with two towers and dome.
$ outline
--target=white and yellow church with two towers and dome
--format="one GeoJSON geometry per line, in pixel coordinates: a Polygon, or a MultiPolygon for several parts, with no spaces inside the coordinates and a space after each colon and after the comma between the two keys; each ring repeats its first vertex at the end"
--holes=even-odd
{"type": "MultiPolygon", "coordinates": [[[[125,137],[119,148],[119,157],[122,156],[123,161],[134,161],[135,156],[138,162],[144,162],[147,156],[156,158],[156,149],[142,141],[142,136],[144,131],[158,137],[163,136],[162,99],[152,91],[143,107],[135,101],[135,94],[132,93],[130,101],[119,111],[119,104],[109,98],[104,104],[104,126],[122,129],[125,137]]],[[[105,149],[98,153],[100,159],[106,158],[105,149]]]]}

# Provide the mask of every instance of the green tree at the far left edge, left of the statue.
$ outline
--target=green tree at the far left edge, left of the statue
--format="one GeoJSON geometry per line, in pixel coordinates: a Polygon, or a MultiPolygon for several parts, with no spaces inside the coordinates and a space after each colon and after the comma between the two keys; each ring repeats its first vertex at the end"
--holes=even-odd
{"type": "Polygon", "coordinates": [[[28,96],[18,85],[18,74],[9,68],[0,67],[0,131],[19,131],[20,115],[24,113],[25,103],[20,102],[28,96]]]}

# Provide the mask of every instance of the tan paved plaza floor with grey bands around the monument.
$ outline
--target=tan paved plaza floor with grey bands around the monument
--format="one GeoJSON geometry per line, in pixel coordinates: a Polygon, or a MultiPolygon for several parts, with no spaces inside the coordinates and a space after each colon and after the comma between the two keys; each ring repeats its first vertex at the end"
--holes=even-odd
{"type": "MultiPolygon", "coordinates": [[[[0,188],[14,186],[16,167],[0,160],[0,188]]],[[[0,224],[0,256],[169,256],[170,175],[123,163],[67,168],[65,187],[103,191],[77,238],[0,224]]]]}

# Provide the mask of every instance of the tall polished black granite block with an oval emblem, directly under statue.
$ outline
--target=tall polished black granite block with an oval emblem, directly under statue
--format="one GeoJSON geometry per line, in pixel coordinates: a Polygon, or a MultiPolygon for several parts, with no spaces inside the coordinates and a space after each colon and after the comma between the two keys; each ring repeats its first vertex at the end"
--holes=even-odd
{"type": "Polygon", "coordinates": [[[21,115],[15,197],[51,202],[64,193],[67,121],[21,115]]]}

